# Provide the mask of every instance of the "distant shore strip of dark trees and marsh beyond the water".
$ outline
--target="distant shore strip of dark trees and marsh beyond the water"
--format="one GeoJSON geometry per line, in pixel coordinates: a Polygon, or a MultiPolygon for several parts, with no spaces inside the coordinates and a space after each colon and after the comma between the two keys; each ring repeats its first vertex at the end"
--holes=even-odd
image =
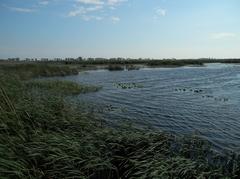
{"type": "Polygon", "coordinates": [[[183,66],[199,67],[208,63],[240,64],[240,59],[45,59],[19,60],[18,58],[0,60],[2,67],[18,65],[57,65],[65,66],[76,71],[107,69],[109,71],[139,70],[141,68],[176,68],[183,66]]]}

